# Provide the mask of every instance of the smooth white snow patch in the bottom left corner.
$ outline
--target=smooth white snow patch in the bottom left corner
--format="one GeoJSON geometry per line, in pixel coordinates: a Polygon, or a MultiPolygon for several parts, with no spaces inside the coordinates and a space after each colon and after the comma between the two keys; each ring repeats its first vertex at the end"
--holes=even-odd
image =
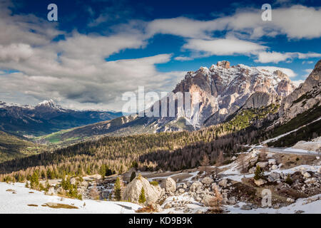
{"type": "Polygon", "coordinates": [[[61,197],[44,195],[44,192],[31,190],[24,187],[24,184],[22,183],[15,183],[13,185],[0,182],[0,214],[131,214],[135,213],[135,210],[141,207],[138,204],[130,202],[62,199],[63,201],[61,201],[61,197]],[[7,192],[6,190],[14,190],[16,194],[13,194],[13,192],[7,192]],[[41,206],[49,202],[68,204],[78,207],[78,209],[54,209],[51,207],[41,206]],[[28,206],[28,204],[35,204],[38,205],[38,207],[28,206]]]}

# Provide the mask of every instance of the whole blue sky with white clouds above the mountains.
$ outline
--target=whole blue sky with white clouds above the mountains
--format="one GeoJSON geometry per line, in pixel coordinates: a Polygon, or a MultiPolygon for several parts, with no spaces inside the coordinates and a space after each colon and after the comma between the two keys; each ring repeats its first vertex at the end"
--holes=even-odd
{"type": "Polygon", "coordinates": [[[121,95],[170,91],[186,71],[286,68],[300,83],[321,58],[320,1],[0,1],[0,100],[121,109],[121,95]],[[48,21],[47,6],[58,6],[48,21]],[[272,6],[272,21],[261,6],[272,6]]]}

